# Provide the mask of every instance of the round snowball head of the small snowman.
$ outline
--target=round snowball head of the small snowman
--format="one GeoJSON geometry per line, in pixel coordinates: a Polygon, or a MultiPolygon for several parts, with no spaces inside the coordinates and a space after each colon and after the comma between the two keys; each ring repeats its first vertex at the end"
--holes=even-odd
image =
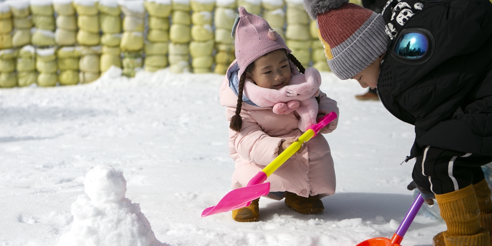
{"type": "Polygon", "coordinates": [[[111,166],[98,165],[86,175],[85,192],[93,202],[119,202],[126,192],[123,173],[111,166]]]}

